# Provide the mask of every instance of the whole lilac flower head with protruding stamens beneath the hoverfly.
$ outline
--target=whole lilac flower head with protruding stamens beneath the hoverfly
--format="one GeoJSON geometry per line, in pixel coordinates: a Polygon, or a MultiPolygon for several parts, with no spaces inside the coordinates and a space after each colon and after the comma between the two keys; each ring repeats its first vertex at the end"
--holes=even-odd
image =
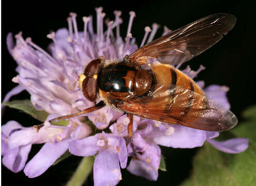
{"type": "MultiPolygon", "coordinates": [[[[126,168],[127,157],[134,156],[127,132],[129,118],[126,114],[123,115],[123,112],[113,111],[106,106],[101,110],[85,114],[99,130],[108,131],[109,128],[111,131],[110,133],[102,131],[93,136],[89,136],[92,130],[83,120],[83,116],[69,118],[67,126],[54,126],[48,122],[52,118],[76,113],[94,105],[85,99],[78,86],[74,86],[77,83],[77,74],[82,73],[90,60],[99,56],[104,56],[106,59],[122,58],[138,49],[135,38],[131,35],[132,21],[135,17],[133,11],[130,12],[125,40],[119,33],[119,27],[123,22],[120,18],[121,11],[114,11],[115,20],[106,22],[105,31],[103,30],[105,13],[102,12],[101,7],[96,8],[96,12],[96,33],[93,29],[93,17],[83,17],[84,30],[78,32],[77,15],[70,13],[67,19],[68,29],[58,29],[56,33],[47,35],[53,41],[49,45],[51,55],[32,42],[31,38],[24,40],[21,33],[15,36],[16,43],[12,34],[8,34],[7,47],[18,64],[18,75],[13,77],[12,81],[19,85],[6,95],[4,101],[27,90],[31,94],[33,105],[38,110],[50,114],[38,133],[33,128],[22,127],[16,121],[9,121],[2,126],[3,164],[13,172],[19,172],[24,168],[24,173],[29,178],[37,177],[68,149],[76,156],[88,157],[96,154],[95,185],[116,185],[122,179],[121,168],[126,168]],[[36,156],[26,163],[32,145],[40,143],[45,144],[36,156]]],[[[155,23],[152,25],[152,30],[146,26],[140,46],[146,43],[147,37],[147,43],[152,41],[158,28],[159,25],[155,23]]],[[[165,27],[162,35],[168,32],[170,30],[165,27]]],[[[193,71],[188,66],[182,71],[193,79],[203,69],[205,68],[200,66],[197,71],[193,71]]],[[[230,108],[226,97],[227,87],[211,85],[204,88],[203,81],[198,84],[209,98],[230,108]]],[[[213,138],[218,135],[218,132],[170,125],[133,116],[132,142],[137,159],[133,158],[127,169],[134,175],[157,180],[161,158],[159,145],[194,148],[202,146],[207,141],[217,149],[228,153],[239,153],[248,147],[248,140],[245,138],[217,142],[213,138]]]]}

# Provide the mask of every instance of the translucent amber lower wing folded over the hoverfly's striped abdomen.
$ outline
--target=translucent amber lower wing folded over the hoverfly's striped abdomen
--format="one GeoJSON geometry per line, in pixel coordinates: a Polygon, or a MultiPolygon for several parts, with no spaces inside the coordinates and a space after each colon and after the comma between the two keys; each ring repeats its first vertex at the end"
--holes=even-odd
{"type": "Polygon", "coordinates": [[[207,131],[228,130],[237,123],[235,115],[216,101],[174,85],[155,86],[147,97],[118,107],[145,118],[207,131]]]}

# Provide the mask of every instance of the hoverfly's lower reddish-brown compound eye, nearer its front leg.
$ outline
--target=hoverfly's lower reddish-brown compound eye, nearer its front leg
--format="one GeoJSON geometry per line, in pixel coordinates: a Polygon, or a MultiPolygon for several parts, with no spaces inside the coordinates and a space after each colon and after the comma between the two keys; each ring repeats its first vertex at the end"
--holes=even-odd
{"type": "Polygon", "coordinates": [[[86,77],[82,84],[84,97],[92,102],[96,101],[97,80],[93,77],[86,77]]]}

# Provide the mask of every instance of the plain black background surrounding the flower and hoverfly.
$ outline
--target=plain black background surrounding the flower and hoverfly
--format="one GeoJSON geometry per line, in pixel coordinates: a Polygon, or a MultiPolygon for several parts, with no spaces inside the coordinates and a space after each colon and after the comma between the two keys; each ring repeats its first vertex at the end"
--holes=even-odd
{"type": "MultiPolygon", "coordinates": [[[[219,84],[230,87],[228,98],[231,110],[241,120],[243,110],[255,104],[255,8],[249,1],[2,1],[2,100],[15,83],[11,82],[16,76],[16,62],[9,55],[6,47],[8,32],[17,34],[20,30],[23,37],[32,37],[33,41],[46,49],[51,42],[46,37],[51,30],[67,27],[66,18],[69,12],[78,13],[77,21],[80,30],[83,29],[83,16],[96,15],[94,8],[103,7],[106,17],[114,19],[114,10],[122,10],[121,25],[122,37],[126,35],[129,21],[129,11],[136,13],[132,25],[132,36],[140,45],[144,36],[144,27],[156,22],[170,29],[177,29],[190,22],[214,13],[231,13],[236,16],[237,23],[231,32],[203,54],[193,58],[189,64],[196,70],[200,64],[206,70],[200,73],[196,80],[205,80],[206,85],[219,84]]],[[[106,18],[105,17],[105,18],[106,18]]],[[[95,20],[95,19],[94,19],[95,20]]],[[[163,27],[158,30],[157,37],[161,36],[163,27]]],[[[29,95],[24,91],[13,99],[25,99],[29,95]]],[[[6,108],[2,123],[17,120],[23,126],[33,126],[38,121],[24,113],[6,108]],[[13,117],[15,116],[15,117],[13,117]]],[[[40,149],[41,145],[34,145],[29,154],[31,159],[40,149]]],[[[157,182],[148,181],[141,177],[131,175],[127,170],[122,170],[123,180],[119,185],[178,185],[190,174],[191,161],[197,152],[195,149],[162,148],[166,157],[168,172],[159,170],[157,182]]],[[[23,172],[18,174],[2,166],[2,184],[14,185],[64,185],[72,175],[79,157],[70,157],[64,162],[51,167],[43,175],[29,179],[23,172]]],[[[89,177],[86,185],[93,184],[93,177],[89,177]]]]}

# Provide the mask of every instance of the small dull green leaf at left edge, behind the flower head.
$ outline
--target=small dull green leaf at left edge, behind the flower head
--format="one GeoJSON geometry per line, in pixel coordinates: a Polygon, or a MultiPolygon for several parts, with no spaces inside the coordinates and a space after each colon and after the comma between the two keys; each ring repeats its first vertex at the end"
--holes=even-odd
{"type": "Polygon", "coordinates": [[[45,121],[49,115],[46,111],[38,111],[30,100],[14,100],[5,102],[4,105],[21,110],[39,121],[45,121]]]}

